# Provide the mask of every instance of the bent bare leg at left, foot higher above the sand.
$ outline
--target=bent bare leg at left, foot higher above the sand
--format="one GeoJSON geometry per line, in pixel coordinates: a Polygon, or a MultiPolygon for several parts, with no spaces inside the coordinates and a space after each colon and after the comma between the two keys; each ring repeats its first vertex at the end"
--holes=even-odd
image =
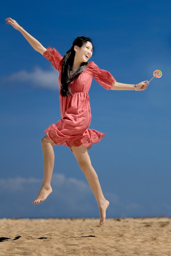
{"type": "Polygon", "coordinates": [[[39,204],[46,200],[48,195],[52,192],[51,188],[51,177],[53,173],[53,166],[54,166],[54,152],[53,146],[55,145],[53,141],[49,139],[46,135],[42,141],[42,148],[43,148],[43,156],[44,156],[44,179],[40,191],[34,200],[33,204],[39,204]]]}

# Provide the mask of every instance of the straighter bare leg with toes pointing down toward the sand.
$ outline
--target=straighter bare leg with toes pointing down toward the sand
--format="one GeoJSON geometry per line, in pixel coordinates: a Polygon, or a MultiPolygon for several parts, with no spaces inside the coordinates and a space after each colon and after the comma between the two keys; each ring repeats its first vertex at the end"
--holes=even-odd
{"type": "Polygon", "coordinates": [[[100,226],[104,224],[106,218],[106,209],[109,206],[109,201],[104,198],[98,175],[91,165],[91,160],[87,152],[87,148],[84,146],[71,146],[73,154],[75,155],[81,170],[84,172],[87,181],[95,195],[100,211],[100,226]]]}

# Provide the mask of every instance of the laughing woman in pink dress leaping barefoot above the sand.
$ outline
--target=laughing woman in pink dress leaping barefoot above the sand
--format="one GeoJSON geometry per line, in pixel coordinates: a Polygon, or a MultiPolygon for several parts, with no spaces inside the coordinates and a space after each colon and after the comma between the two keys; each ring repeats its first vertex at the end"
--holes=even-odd
{"type": "Polygon", "coordinates": [[[30,45],[47,58],[60,74],[60,112],[62,119],[44,131],[46,136],[41,141],[44,155],[44,180],[33,204],[44,201],[52,192],[53,146],[55,144],[69,146],[95,195],[100,211],[100,225],[103,225],[109,201],[104,198],[98,176],[91,165],[87,150],[105,135],[89,129],[91,112],[88,91],[93,78],[107,90],[141,91],[147,88],[149,82],[143,81],[137,85],[118,83],[109,72],[100,70],[94,62],[87,63],[93,53],[93,45],[89,38],[76,38],[71,49],[62,58],[56,49],[44,48],[15,20],[7,18],[6,22],[20,31],[30,45]]]}

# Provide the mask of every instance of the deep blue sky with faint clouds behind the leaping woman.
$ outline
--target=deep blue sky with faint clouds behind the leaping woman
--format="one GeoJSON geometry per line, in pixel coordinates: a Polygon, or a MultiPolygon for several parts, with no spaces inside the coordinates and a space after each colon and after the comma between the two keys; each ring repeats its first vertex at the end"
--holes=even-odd
{"type": "Polygon", "coordinates": [[[98,206],[71,150],[55,146],[53,193],[32,205],[43,177],[40,140],[60,119],[58,72],[23,36],[63,55],[77,36],[118,82],[150,80],[144,92],[107,91],[93,81],[90,128],[106,137],[89,150],[108,218],[171,217],[171,1],[17,1],[0,9],[0,218],[97,217],[98,206]]]}

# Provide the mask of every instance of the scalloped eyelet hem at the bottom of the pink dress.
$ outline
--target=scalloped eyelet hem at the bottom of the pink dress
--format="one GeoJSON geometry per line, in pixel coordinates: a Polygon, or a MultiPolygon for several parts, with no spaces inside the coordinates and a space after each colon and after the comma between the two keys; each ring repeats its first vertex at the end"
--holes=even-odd
{"type": "Polygon", "coordinates": [[[71,146],[79,147],[83,145],[87,149],[90,149],[93,144],[98,143],[102,138],[105,137],[105,134],[102,132],[91,129],[87,130],[89,131],[89,135],[82,135],[69,140],[66,138],[65,140],[59,138],[54,130],[47,129],[44,131],[44,133],[46,133],[49,139],[51,139],[56,145],[68,146],[69,148],[71,148],[71,146]]]}

